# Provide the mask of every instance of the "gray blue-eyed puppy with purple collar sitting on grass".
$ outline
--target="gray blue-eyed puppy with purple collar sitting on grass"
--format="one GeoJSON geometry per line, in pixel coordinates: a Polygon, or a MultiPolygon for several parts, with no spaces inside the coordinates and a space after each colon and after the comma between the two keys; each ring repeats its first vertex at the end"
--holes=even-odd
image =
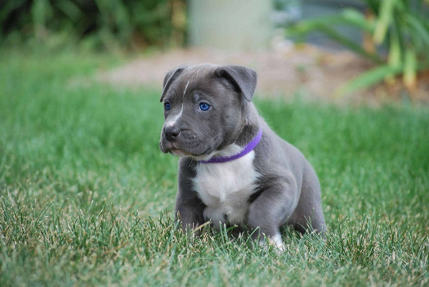
{"type": "Polygon", "coordinates": [[[282,225],[324,236],[320,184],[304,155],[258,115],[256,82],[256,72],[243,66],[170,70],[160,149],[181,157],[176,211],[184,229],[209,220],[216,229],[259,228],[260,244],[267,237],[283,250],[282,225]]]}

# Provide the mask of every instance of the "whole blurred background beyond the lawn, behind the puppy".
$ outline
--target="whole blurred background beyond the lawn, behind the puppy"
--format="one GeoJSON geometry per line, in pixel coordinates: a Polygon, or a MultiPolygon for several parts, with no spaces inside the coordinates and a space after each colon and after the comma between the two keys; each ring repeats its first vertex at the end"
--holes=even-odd
{"type": "Polygon", "coordinates": [[[160,85],[182,63],[256,69],[258,93],[328,101],[429,95],[427,0],[3,0],[0,45],[125,53],[100,81],[160,85]]]}

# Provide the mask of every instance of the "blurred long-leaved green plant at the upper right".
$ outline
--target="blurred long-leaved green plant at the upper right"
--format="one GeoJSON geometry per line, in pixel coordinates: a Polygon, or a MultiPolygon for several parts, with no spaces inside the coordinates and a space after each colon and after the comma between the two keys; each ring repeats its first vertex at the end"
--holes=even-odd
{"type": "Polygon", "coordinates": [[[287,34],[321,31],[377,65],[346,83],[340,89],[341,94],[382,80],[392,83],[398,75],[402,75],[404,86],[412,92],[417,73],[429,71],[429,0],[362,1],[367,6],[365,13],[346,8],[336,15],[300,21],[287,29],[287,34]],[[337,32],[338,25],[362,30],[363,43],[357,44],[337,32]]]}

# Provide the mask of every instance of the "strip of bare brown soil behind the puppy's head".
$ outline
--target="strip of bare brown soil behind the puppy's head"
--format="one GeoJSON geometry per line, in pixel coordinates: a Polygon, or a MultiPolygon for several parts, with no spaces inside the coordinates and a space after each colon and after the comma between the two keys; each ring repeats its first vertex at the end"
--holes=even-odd
{"type": "Polygon", "coordinates": [[[98,75],[102,82],[115,85],[145,85],[161,89],[165,73],[187,63],[239,64],[258,72],[258,97],[305,101],[328,101],[337,104],[368,104],[401,101],[429,103],[429,74],[421,75],[412,93],[398,78],[395,83],[339,95],[338,89],[353,77],[372,67],[371,62],[348,51],[327,51],[311,45],[293,45],[286,42],[276,48],[260,52],[224,52],[215,50],[172,50],[140,57],[123,67],[98,75]]]}

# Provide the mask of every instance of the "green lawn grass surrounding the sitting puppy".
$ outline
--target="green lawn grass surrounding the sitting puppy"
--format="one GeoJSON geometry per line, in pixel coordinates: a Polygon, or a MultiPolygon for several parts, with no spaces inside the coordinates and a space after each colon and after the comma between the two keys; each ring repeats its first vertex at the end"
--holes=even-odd
{"type": "Polygon", "coordinates": [[[313,164],[329,226],[286,229],[277,255],[177,230],[160,88],[92,80],[123,58],[1,55],[0,286],[429,285],[428,107],[256,100],[313,164]]]}

